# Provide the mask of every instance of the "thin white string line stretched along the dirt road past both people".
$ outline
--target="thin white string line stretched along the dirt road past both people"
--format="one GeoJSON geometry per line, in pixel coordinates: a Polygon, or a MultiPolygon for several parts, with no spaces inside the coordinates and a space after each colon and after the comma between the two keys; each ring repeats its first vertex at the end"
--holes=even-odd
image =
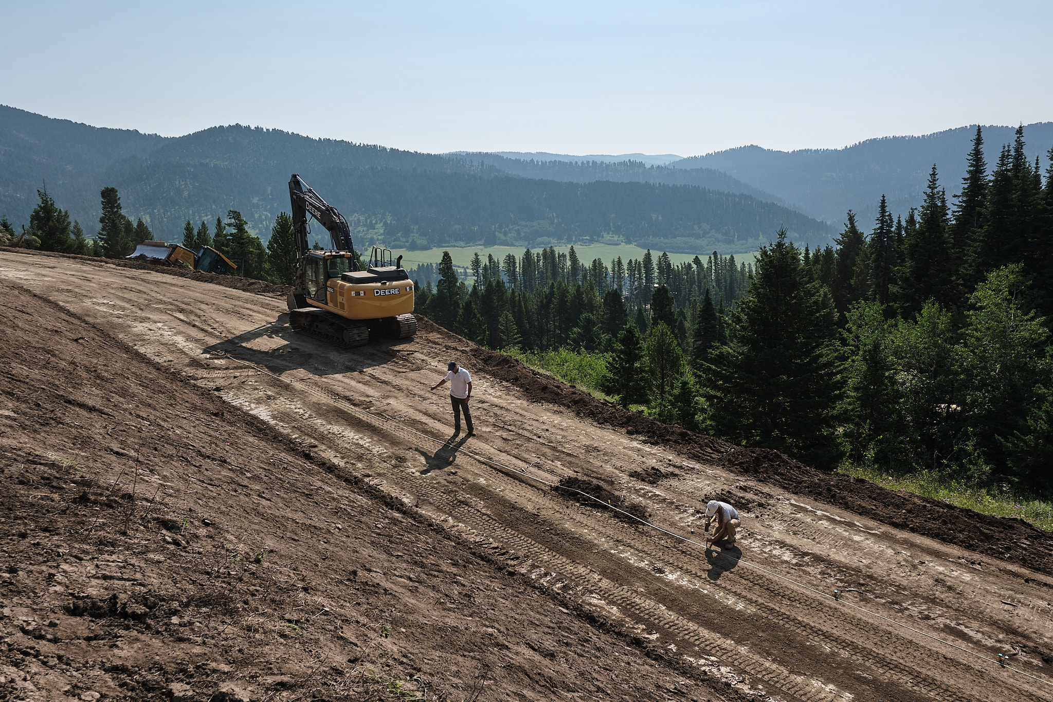
{"type": "MultiPolygon", "coordinates": [[[[197,344],[193,344],[193,345],[197,346],[197,344]]],[[[198,346],[198,347],[201,350],[205,350],[204,346],[198,346]]],[[[213,352],[210,352],[210,353],[213,353],[213,352]]],[[[374,414],[374,413],[372,413],[372,412],[370,412],[367,409],[362,409],[361,407],[358,407],[358,406],[352,404],[351,402],[349,402],[347,400],[345,400],[345,399],[343,399],[343,398],[341,398],[339,396],[336,396],[336,397],[327,396],[327,395],[325,395],[325,394],[323,394],[323,393],[321,393],[321,392],[319,392],[319,390],[317,390],[317,389],[315,389],[313,387],[310,387],[307,385],[304,385],[304,384],[300,383],[298,381],[298,379],[296,379],[296,378],[283,378],[283,377],[281,377],[279,375],[271,373],[270,370],[267,370],[265,368],[258,367],[255,363],[252,363],[250,361],[242,361],[242,360],[240,360],[238,358],[235,358],[235,357],[231,356],[226,352],[220,352],[220,353],[222,353],[226,358],[229,358],[230,360],[234,361],[235,363],[240,363],[242,365],[249,366],[249,367],[257,370],[258,373],[262,373],[264,375],[271,376],[272,378],[275,378],[277,380],[283,381],[283,382],[285,382],[285,383],[287,383],[290,385],[299,385],[300,387],[302,387],[303,389],[307,390],[312,395],[315,395],[317,397],[324,397],[325,399],[327,399],[330,401],[335,401],[335,402],[338,402],[338,403],[345,404],[346,406],[351,407],[354,412],[367,415],[369,417],[372,417],[372,418],[374,418],[376,420],[379,420],[379,421],[382,421],[382,422],[386,422],[386,423],[390,423],[390,424],[395,424],[396,426],[398,426],[401,429],[404,429],[406,432],[415,434],[415,435],[417,435],[417,436],[419,436],[419,437],[421,437],[423,439],[428,439],[429,441],[433,441],[433,442],[435,442],[437,444],[441,444],[441,445],[444,446],[444,445],[446,445],[449,443],[445,439],[436,439],[435,437],[432,437],[432,436],[429,436],[426,434],[423,434],[422,432],[418,432],[417,429],[414,429],[412,427],[405,426],[404,424],[400,424],[399,422],[396,422],[393,419],[388,418],[388,417],[385,417],[383,415],[376,415],[376,414],[374,414]]],[[[529,478],[530,480],[536,481],[536,482],[541,483],[543,485],[548,485],[550,487],[557,488],[557,489],[563,489],[563,490],[570,490],[572,493],[577,493],[578,495],[582,495],[582,496],[589,498],[590,500],[592,500],[594,502],[597,502],[598,504],[607,507],[608,509],[614,509],[615,512],[617,512],[619,514],[625,515],[627,517],[629,517],[629,518],[631,518],[631,519],[633,519],[633,520],[635,520],[635,521],[643,524],[644,526],[649,526],[649,527],[651,527],[651,528],[653,528],[653,529],[655,529],[657,531],[661,531],[662,534],[669,535],[669,536],[671,536],[671,537],[673,537],[675,539],[679,539],[680,541],[683,541],[686,543],[690,543],[690,544],[693,544],[695,546],[701,546],[706,550],[710,550],[709,544],[701,544],[701,543],[695,541],[694,539],[691,539],[689,537],[682,536],[680,534],[676,534],[675,531],[670,531],[669,529],[663,528],[661,526],[658,526],[657,524],[652,524],[651,522],[649,522],[649,521],[647,521],[644,519],[641,519],[641,518],[637,517],[636,515],[628,513],[628,512],[625,512],[623,509],[619,509],[618,507],[615,507],[613,504],[609,504],[608,502],[604,502],[603,500],[600,500],[597,497],[589,495],[588,493],[583,493],[582,490],[579,490],[579,489],[576,489],[576,488],[573,488],[573,487],[564,487],[563,485],[560,485],[558,483],[553,483],[553,482],[550,482],[550,481],[544,480],[542,478],[537,478],[537,477],[532,476],[529,473],[526,473],[525,468],[520,468],[520,469],[517,470],[516,468],[513,468],[511,466],[508,466],[508,465],[504,465],[502,463],[499,463],[498,461],[494,461],[494,460],[491,460],[489,458],[484,458],[484,457],[479,456],[478,454],[475,454],[475,453],[473,453],[473,452],[471,452],[469,449],[465,449],[465,448],[459,449],[459,453],[463,453],[464,455],[466,455],[466,456],[469,456],[471,458],[474,458],[475,460],[479,461],[480,463],[484,463],[484,464],[489,464],[489,465],[492,465],[492,466],[495,466],[495,467],[498,467],[498,468],[502,468],[504,470],[512,472],[513,474],[516,474],[516,475],[521,475],[524,478],[529,478]]],[[[534,463],[531,463],[528,467],[534,467],[540,461],[534,461],[534,463]]],[[[794,584],[794,585],[796,585],[798,587],[807,589],[810,593],[815,593],[816,595],[819,595],[821,597],[834,600],[835,602],[838,602],[840,604],[843,604],[843,605],[847,605],[849,607],[852,607],[853,609],[857,609],[857,610],[862,611],[865,614],[868,614],[868,615],[871,615],[873,617],[877,617],[878,619],[885,620],[885,621],[887,621],[887,622],[889,622],[891,624],[895,624],[896,626],[900,626],[900,627],[902,627],[902,628],[905,628],[905,629],[907,629],[909,631],[914,631],[915,634],[919,634],[919,635],[921,635],[923,637],[928,637],[928,638],[932,639],[933,641],[938,641],[939,643],[942,643],[945,645],[952,646],[954,648],[957,648],[958,650],[961,650],[961,651],[965,651],[965,653],[969,654],[970,656],[975,656],[976,658],[979,658],[981,660],[988,661],[990,663],[995,663],[996,665],[998,665],[1002,669],[1010,670],[1012,673],[1016,673],[1016,674],[1019,674],[1021,676],[1026,676],[1028,678],[1031,678],[1032,680],[1037,680],[1040,683],[1045,683],[1047,685],[1053,686],[1053,682],[1051,682],[1049,680],[1046,680],[1045,678],[1039,678],[1037,676],[1033,676],[1030,673],[1025,673],[1024,670],[1020,670],[1019,668],[1010,667],[1009,665],[1006,664],[1006,662],[1005,662],[1006,658],[1002,658],[1001,654],[999,654],[998,656],[1002,660],[995,660],[993,658],[988,658],[987,656],[984,656],[981,654],[977,654],[975,651],[969,650],[968,648],[959,646],[956,643],[952,643],[950,641],[946,641],[943,639],[940,639],[939,637],[933,636],[931,634],[927,634],[926,631],[920,631],[920,630],[918,630],[918,629],[916,629],[916,628],[914,628],[912,626],[908,626],[907,624],[898,622],[898,621],[896,621],[894,619],[890,619],[889,617],[886,617],[885,615],[879,615],[876,611],[871,611],[870,609],[867,609],[866,607],[860,607],[859,605],[852,604],[851,602],[846,602],[845,600],[838,599],[834,595],[830,595],[829,593],[823,593],[822,590],[815,589],[814,587],[810,587],[809,585],[806,585],[804,583],[797,582],[796,580],[793,580],[792,578],[787,578],[786,576],[780,576],[779,574],[773,573],[773,571],[771,571],[771,570],[769,570],[767,568],[763,568],[763,567],[761,567],[759,565],[756,565],[755,563],[751,563],[751,562],[746,561],[746,560],[743,560],[741,558],[738,558],[736,556],[732,556],[731,554],[729,554],[727,551],[721,551],[721,554],[724,555],[724,556],[728,556],[731,559],[734,559],[737,563],[741,563],[741,564],[743,564],[743,565],[746,565],[748,567],[754,568],[755,570],[759,570],[761,573],[768,574],[768,575],[772,576],[773,578],[778,578],[779,580],[783,580],[783,581],[786,581],[788,583],[792,583],[792,584],[794,584]]]]}

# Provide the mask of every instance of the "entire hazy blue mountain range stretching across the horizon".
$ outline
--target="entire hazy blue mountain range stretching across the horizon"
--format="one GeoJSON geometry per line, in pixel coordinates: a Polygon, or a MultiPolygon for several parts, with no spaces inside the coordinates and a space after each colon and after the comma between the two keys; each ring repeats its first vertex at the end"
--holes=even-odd
{"type": "MultiPolygon", "coordinates": [[[[1013,132],[984,127],[989,165],[1013,132]]],[[[623,241],[738,253],[784,225],[816,246],[849,209],[869,229],[881,195],[894,214],[918,206],[933,163],[948,195],[957,193],[974,133],[959,127],[835,149],[742,146],[684,159],[437,155],[241,125],[166,138],[0,106],[0,214],[27,223],[36,189],[46,185],[91,236],[99,190],[113,185],[126,213],[166,240],[178,239],[187,219],[212,223],[227,209],[239,209],[265,240],[275,216],[289,209],[285,184],[295,172],[344,213],[362,245],[623,241]]],[[[1045,155],[1053,122],[1026,125],[1025,138],[1030,158],[1045,155]]],[[[323,232],[316,236],[325,242],[323,232]]]]}

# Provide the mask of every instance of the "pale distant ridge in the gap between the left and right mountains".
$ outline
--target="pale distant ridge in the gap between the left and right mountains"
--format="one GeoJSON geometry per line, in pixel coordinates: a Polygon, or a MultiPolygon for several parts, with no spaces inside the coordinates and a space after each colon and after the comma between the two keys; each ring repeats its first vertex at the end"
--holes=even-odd
{"type": "Polygon", "coordinates": [[[454,155],[472,163],[493,166],[523,178],[543,178],[572,183],[610,180],[618,183],[660,183],[663,185],[697,185],[711,190],[751,195],[758,200],[790,206],[782,198],[754,187],[715,168],[671,168],[644,161],[567,161],[508,158],[499,154],[461,153],[454,155]]]}

